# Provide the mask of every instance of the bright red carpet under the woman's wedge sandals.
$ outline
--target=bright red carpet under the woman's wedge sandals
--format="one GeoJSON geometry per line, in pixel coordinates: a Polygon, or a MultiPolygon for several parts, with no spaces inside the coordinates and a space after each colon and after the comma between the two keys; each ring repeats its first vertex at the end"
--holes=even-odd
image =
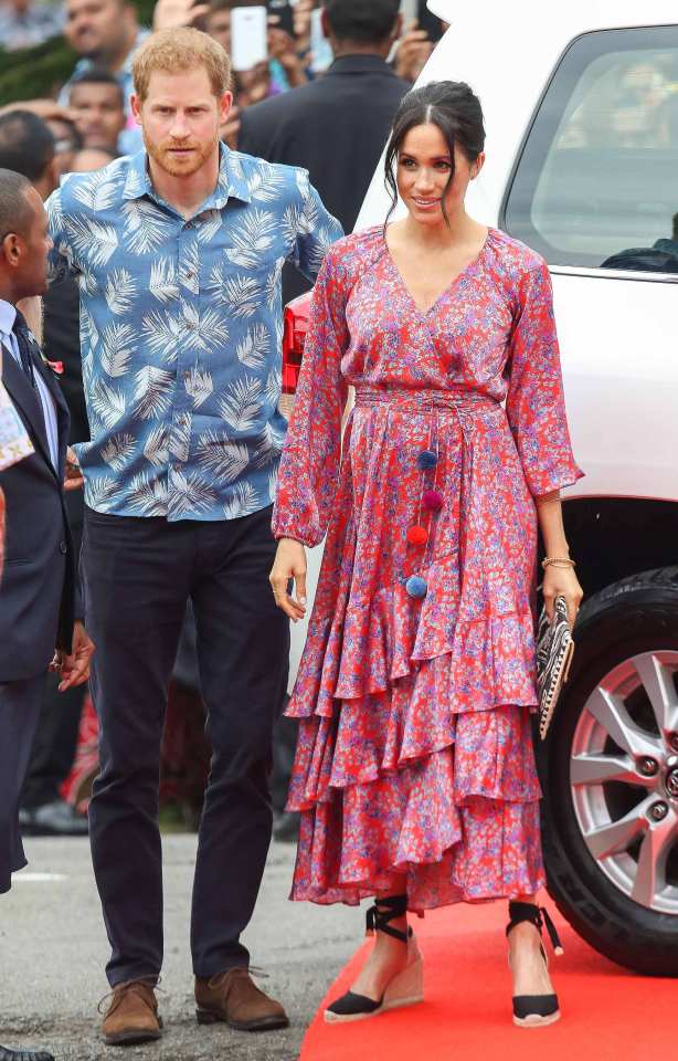
{"type": "MultiPolygon", "coordinates": [[[[414,918],[426,1001],[341,1026],[324,1022],[322,1005],[299,1061],[650,1061],[675,1055],[676,980],[634,976],[613,965],[559,916],[554,921],[565,954],[550,956],[550,962],[562,1018],[547,1028],[513,1027],[505,920],[505,903],[459,904],[433,911],[424,921],[414,918]]],[[[357,912],[357,931],[359,926],[357,912]]],[[[362,948],[326,1001],[348,989],[361,960],[362,948]]]]}

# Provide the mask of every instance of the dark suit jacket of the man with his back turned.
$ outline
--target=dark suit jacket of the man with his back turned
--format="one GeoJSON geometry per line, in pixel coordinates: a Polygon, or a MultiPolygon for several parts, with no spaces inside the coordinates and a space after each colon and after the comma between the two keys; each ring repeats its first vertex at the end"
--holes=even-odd
{"type": "MultiPolygon", "coordinates": [[[[247,107],[239,149],[269,162],[304,166],[322,202],[352,232],[389,138],[412,86],[378,55],[345,55],[316,81],[247,107]]],[[[283,274],[285,301],[309,285],[283,274]]]]}

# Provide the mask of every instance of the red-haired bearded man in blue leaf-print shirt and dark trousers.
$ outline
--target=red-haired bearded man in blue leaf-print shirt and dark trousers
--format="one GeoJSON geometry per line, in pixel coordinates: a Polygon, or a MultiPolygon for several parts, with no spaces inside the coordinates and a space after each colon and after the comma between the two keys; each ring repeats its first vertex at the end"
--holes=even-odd
{"type": "Polygon", "coordinates": [[[113,949],[109,1043],[161,1033],[158,759],[189,598],[213,747],[191,924],[198,1017],[287,1023],[240,942],[271,839],[271,734],[289,647],[267,579],[285,433],[280,270],[292,260],[312,279],[341,230],[304,170],[220,145],[229,74],[205,34],[153,34],[134,61],[147,151],[70,177],[49,202],[53,273],[80,281],[92,429],[77,451],[98,645],[89,829],[113,949]]]}

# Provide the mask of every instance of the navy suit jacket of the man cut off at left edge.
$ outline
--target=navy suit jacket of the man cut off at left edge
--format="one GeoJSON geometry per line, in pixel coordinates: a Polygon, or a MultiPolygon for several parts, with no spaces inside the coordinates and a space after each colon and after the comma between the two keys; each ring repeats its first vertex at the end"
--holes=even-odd
{"type": "Polygon", "coordinates": [[[2,382],[35,452],[0,472],[7,498],[7,548],[0,582],[0,682],[34,677],[49,666],[54,648],[71,650],[76,611],[75,558],[62,482],[68,410],[38,346],[33,366],[54,398],[59,470],[50,461],[40,396],[12,355],[2,351],[2,382]]]}

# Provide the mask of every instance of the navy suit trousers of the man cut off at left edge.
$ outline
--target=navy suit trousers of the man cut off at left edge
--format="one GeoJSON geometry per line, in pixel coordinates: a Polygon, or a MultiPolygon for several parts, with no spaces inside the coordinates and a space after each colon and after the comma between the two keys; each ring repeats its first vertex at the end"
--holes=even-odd
{"type": "MultiPolygon", "coordinates": [[[[0,605],[1,607],[1,605],[0,605]]],[[[44,698],[47,673],[0,682],[0,892],[25,864],[19,831],[19,796],[44,698]]]]}

